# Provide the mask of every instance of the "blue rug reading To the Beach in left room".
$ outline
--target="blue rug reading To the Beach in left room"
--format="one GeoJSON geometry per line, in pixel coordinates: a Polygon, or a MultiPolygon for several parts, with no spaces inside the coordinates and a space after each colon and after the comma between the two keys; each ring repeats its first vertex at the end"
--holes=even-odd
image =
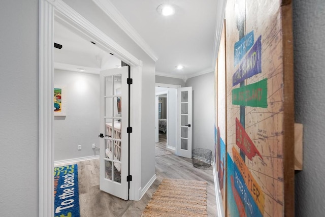
{"type": "Polygon", "coordinates": [[[54,167],[54,216],[80,217],[77,164],[54,167]]]}

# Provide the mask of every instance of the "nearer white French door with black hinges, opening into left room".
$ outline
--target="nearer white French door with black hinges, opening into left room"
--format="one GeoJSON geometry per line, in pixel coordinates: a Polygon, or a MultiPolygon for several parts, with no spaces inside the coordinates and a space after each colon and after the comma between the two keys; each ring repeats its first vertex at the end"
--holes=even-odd
{"type": "Polygon", "coordinates": [[[100,189],[128,199],[128,67],[100,74],[100,189]]]}

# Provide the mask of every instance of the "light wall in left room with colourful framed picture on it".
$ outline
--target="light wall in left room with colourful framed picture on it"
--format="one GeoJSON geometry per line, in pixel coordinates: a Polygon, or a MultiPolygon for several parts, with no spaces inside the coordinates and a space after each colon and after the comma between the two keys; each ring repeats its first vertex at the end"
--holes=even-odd
{"type": "Polygon", "coordinates": [[[100,76],[55,70],[55,84],[67,88],[67,116],[54,116],[54,160],[98,155],[91,144],[99,147],[100,76]]]}

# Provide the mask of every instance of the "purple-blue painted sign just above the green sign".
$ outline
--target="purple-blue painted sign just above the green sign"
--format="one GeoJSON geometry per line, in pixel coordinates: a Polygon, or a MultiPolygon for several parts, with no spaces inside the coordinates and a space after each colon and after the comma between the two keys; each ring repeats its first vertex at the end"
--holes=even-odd
{"type": "Polygon", "coordinates": [[[247,78],[262,72],[262,36],[259,36],[251,50],[244,58],[233,75],[233,86],[247,78]]]}

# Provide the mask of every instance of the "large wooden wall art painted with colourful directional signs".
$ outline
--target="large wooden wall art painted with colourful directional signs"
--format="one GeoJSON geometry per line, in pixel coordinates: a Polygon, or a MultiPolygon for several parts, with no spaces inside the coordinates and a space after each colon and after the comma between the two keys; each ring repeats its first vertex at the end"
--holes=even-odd
{"type": "Polygon", "coordinates": [[[226,119],[217,116],[217,133],[226,140],[226,216],[294,216],[291,14],[290,1],[227,1],[225,72],[219,56],[216,70],[225,74],[226,119]]]}

